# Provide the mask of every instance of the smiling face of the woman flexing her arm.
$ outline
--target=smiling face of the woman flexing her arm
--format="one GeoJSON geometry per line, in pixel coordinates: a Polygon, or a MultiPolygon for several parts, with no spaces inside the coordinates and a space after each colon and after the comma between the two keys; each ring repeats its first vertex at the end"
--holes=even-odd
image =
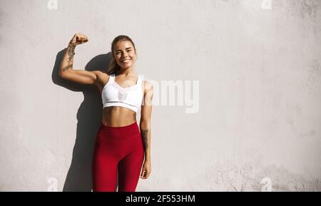
{"type": "Polygon", "coordinates": [[[121,68],[130,68],[136,61],[136,51],[131,41],[118,41],[114,46],[113,56],[121,68]]]}

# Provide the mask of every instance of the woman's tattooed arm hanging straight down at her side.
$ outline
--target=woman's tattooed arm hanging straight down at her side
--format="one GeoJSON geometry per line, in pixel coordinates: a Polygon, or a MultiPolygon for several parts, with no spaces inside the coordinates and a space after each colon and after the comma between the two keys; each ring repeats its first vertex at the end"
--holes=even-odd
{"type": "Polygon", "coordinates": [[[141,121],[139,123],[141,130],[141,138],[143,140],[143,148],[145,160],[141,171],[141,178],[147,179],[151,174],[151,112],[153,101],[153,85],[145,81],[144,97],[141,106],[141,121]]]}

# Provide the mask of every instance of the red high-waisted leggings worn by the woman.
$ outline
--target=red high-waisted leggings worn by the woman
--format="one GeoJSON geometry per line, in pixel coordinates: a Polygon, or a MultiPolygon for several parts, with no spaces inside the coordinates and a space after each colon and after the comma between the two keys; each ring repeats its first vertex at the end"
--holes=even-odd
{"type": "Polygon", "coordinates": [[[118,192],[135,192],[143,158],[137,122],[122,127],[101,123],[93,152],[93,192],[116,192],[117,177],[118,192]]]}

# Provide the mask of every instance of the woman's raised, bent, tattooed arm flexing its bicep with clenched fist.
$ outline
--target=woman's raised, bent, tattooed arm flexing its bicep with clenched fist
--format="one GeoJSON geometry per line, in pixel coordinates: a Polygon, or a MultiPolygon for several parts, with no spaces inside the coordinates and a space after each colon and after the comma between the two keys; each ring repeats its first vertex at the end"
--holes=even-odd
{"type": "Polygon", "coordinates": [[[87,41],[88,38],[85,35],[75,34],[68,43],[68,47],[66,52],[63,54],[63,58],[59,66],[59,76],[61,78],[81,84],[93,84],[96,82],[96,71],[73,69],[73,56],[75,55],[76,46],[87,41]]]}

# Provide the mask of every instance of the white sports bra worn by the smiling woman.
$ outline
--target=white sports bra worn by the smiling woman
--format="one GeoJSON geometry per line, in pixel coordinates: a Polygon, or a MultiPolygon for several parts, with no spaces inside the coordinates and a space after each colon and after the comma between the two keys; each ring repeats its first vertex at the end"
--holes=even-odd
{"type": "Polygon", "coordinates": [[[137,113],[143,103],[143,76],[138,75],[136,85],[123,88],[115,80],[115,74],[109,76],[108,82],[103,86],[101,98],[103,108],[121,106],[129,108],[137,113]]]}

